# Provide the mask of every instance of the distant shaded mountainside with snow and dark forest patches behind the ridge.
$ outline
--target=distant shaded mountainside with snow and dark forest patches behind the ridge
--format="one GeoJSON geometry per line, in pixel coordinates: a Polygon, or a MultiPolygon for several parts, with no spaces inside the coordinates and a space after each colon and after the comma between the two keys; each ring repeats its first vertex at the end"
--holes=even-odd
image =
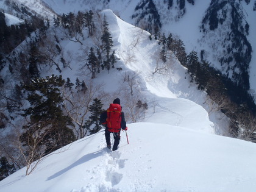
{"type": "MultiPolygon", "coordinates": [[[[185,35],[181,35],[182,30],[189,24],[184,20],[196,15],[196,7],[201,6],[204,14],[192,21],[197,35],[191,34],[190,38],[194,38],[194,46],[187,48],[187,52],[194,49],[197,54],[201,55],[202,60],[210,62],[238,86],[255,91],[253,83],[255,79],[251,78],[255,76],[255,73],[252,72],[254,69],[252,68],[254,60],[252,57],[255,57],[252,53],[255,47],[252,37],[249,38],[254,32],[252,28],[255,27],[254,23],[248,21],[246,9],[249,7],[250,12],[255,11],[256,1],[143,0],[137,2],[98,0],[93,2],[54,2],[44,0],[44,2],[59,14],[77,12],[79,9],[112,9],[125,21],[148,30],[152,34],[175,31],[181,40],[190,35],[190,30],[183,32],[185,35]]],[[[185,46],[188,46],[186,42],[185,46]]]]}

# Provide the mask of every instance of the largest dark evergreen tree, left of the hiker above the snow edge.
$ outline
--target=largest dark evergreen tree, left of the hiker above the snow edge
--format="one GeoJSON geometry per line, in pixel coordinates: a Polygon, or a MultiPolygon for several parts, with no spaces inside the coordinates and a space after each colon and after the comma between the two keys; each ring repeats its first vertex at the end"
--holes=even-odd
{"type": "Polygon", "coordinates": [[[59,87],[64,84],[62,76],[52,75],[23,85],[28,91],[27,101],[30,103],[30,107],[24,110],[24,116],[28,116],[30,122],[23,126],[24,133],[20,140],[27,147],[25,154],[32,155],[32,160],[75,140],[73,130],[70,129],[74,126],[71,118],[62,112],[59,87]]]}

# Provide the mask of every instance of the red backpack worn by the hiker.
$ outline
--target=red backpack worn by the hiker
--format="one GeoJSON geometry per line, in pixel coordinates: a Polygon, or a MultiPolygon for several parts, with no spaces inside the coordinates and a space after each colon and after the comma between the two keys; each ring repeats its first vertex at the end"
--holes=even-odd
{"type": "Polygon", "coordinates": [[[110,132],[119,132],[121,129],[121,105],[110,104],[107,109],[107,127],[110,132]]]}

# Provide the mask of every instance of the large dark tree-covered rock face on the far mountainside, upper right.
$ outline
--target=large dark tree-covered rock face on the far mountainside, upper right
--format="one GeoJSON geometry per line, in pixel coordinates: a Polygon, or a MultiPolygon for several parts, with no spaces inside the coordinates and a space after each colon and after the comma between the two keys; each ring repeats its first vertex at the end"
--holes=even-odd
{"type": "MultiPolygon", "coordinates": [[[[252,59],[252,46],[247,39],[249,27],[241,1],[212,1],[201,25],[201,41],[214,40],[207,44],[215,62],[221,65],[219,69],[247,90],[252,59]]],[[[202,52],[202,59],[204,56],[202,52]]]]}

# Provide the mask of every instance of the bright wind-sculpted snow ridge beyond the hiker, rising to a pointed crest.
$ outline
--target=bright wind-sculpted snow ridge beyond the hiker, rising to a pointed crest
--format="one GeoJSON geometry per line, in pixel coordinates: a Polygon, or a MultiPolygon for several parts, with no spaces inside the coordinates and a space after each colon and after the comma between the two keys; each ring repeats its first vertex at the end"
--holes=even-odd
{"type": "MultiPolygon", "coordinates": [[[[112,10],[104,10],[101,14],[107,17],[109,27],[113,29],[112,36],[115,40],[116,55],[126,63],[127,68],[139,74],[146,91],[150,92],[147,94],[148,99],[152,96],[156,99],[157,113],[153,113],[146,121],[155,122],[162,113],[169,113],[170,116],[165,121],[160,118],[159,123],[214,133],[213,123],[209,121],[204,108],[187,99],[180,99],[189,97],[185,96],[185,93],[188,93],[190,82],[182,78],[185,76],[185,69],[176,60],[173,60],[170,73],[153,75],[155,63],[161,62],[157,61],[158,48],[160,48],[158,41],[150,41],[148,32],[124,22],[114,15],[112,10]],[[132,60],[127,60],[128,55],[132,55],[132,60]],[[177,88],[178,86],[179,88],[177,88]],[[175,90],[179,90],[180,93],[174,92],[175,90]],[[157,99],[154,95],[161,98],[157,99]],[[193,113],[200,115],[194,116],[193,113]],[[201,118],[204,118],[204,121],[201,121],[201,118]],[[202,122],[204,126],[202,126],[202,122]],[[202,129],[202,127],[204,128],[202,129]]],[[[191,92],[191,94],[195,94],[196,98],[200,98],[201,93],[196,88],[191,88],[191,92]]]]}

